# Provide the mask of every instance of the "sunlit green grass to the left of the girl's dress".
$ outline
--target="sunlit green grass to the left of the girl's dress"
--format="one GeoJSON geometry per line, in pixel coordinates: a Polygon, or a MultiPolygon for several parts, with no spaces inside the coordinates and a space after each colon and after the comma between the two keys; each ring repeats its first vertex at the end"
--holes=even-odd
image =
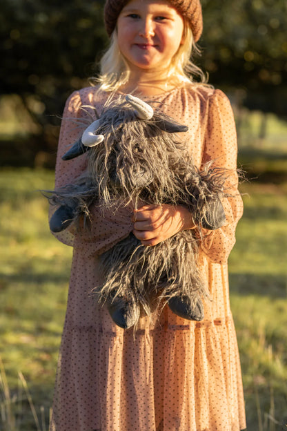
{"type": "MultiPolygon", "coordinates": [[[[12,393],[17,392],[18,372],[23,372],[34,404],[38,410],[45,408],[46,419],[72,253],[48,229],[48,204],[37,190],[52,186],[50,172],[21,169],[0,175],[1,358],[12,393]]],[[[23,405],[27,414],[21,431],[34,430],[29,405],[23,405]]]]}

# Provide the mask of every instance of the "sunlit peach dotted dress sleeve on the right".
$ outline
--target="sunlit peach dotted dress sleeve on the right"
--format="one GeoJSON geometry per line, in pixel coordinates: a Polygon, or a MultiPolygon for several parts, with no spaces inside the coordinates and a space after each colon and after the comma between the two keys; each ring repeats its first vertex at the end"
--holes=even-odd
{"type": "Polygon", "coordinates": [[[235,119],[228,97],[221,90],[215,90],[209,99],[203,163],[210,160],[228,170],[225,187],[229,196],[222,202],[226,224],[215,231],[205,231],[201,249],[212,262],[226,263],[235,245],[235,228],[243,213],[243,204],[238,191],[235,119]]]}

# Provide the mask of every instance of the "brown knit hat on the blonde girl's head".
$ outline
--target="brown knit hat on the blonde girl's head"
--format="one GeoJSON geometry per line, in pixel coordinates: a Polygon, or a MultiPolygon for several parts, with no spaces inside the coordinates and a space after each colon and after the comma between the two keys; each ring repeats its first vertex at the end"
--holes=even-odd
{"type": "MultiPolygon", "coordinates": [[[[200,0],[168,0],[168,2],[189,21],[192,35],[197,42],[203,28],[200,0]]],[[[127,3],[128,0],[106,0],[104,19],[109,36],[115,30],[117,18],[127,3]]]]}

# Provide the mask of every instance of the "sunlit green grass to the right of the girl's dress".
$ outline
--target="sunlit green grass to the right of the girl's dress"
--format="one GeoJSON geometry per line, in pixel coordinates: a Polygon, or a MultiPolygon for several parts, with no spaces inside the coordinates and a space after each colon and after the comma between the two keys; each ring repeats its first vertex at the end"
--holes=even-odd
{"type": "MultiPolygon", "coordinates": [[[[287,423],[286,191],[287,184],[255,181],[241,186],[241,193],[246,193],[244,217],[229,259],[230,302],[252,431],[259,429],[257,395],[262,416],[270,413],[279,423],[287,423]]],[[[268,426],[285,429],[272,421],[268,426]]]]}

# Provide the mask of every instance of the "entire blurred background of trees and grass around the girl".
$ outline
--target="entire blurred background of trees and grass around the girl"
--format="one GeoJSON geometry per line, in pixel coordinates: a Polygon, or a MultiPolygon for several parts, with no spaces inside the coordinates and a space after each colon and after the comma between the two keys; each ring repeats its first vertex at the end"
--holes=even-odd
{"type": "MultiPolygon", "coordinates": [[[[47,202],[70,93],[108,44],[103,0],[2,0],[0,429],[48,430],[72,250],[47,202]]],[[[287,3],[202,0],[195,62],[234,108],[244,217],[230,255],[248,430],[287,423],[287,3]]]]}

